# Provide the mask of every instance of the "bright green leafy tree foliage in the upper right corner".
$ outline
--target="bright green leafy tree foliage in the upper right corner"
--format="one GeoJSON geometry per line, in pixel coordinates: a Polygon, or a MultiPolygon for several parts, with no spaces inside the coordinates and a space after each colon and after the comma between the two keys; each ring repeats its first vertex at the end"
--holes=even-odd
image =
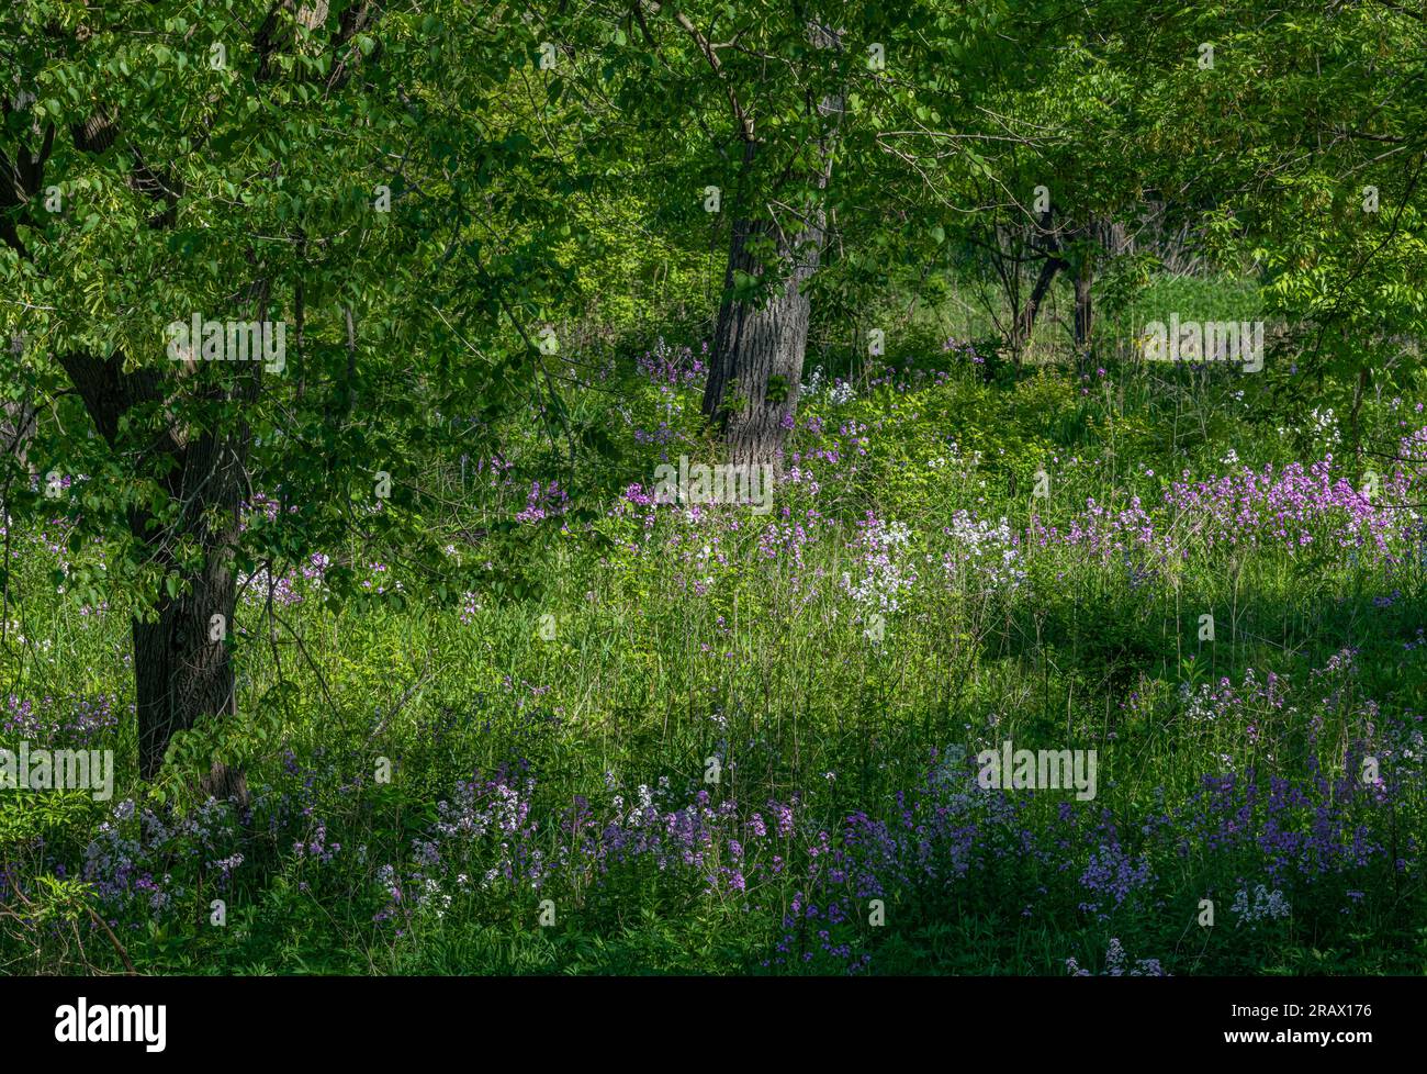
{"type": "Polygon", "coordinates": [[[1427,327],[1424,57],[1420,11],[1310,0],[1156,13],[1107,51],[1134,79],[1116,143],[1142,187],[1197,216],[1206,254],[1253,266],[1294,366],[1356,383],[1356,448],[1373,376],[1427,327]]]}

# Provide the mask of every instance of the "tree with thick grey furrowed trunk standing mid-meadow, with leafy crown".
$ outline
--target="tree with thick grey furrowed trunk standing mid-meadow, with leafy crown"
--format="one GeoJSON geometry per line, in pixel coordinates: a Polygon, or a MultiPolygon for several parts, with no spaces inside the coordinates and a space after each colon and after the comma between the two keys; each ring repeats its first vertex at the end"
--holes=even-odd
{"type": "Polygon", "coordinates": [[[839,236],[880,227],[855,256],[933,250],[962,209],[950,174],[985,167],[973,146],[1003,137],[976,104],[1022,84],[1043,47],[997,3],[638,0],[544,17],[579,94],[615,106],[624,134],[599,147],[659,161],[642,179],[691,230],[701,204],[728,221],[704,413],[735,461],[776,460],[792,428],[832,221],[839,236]]]}

